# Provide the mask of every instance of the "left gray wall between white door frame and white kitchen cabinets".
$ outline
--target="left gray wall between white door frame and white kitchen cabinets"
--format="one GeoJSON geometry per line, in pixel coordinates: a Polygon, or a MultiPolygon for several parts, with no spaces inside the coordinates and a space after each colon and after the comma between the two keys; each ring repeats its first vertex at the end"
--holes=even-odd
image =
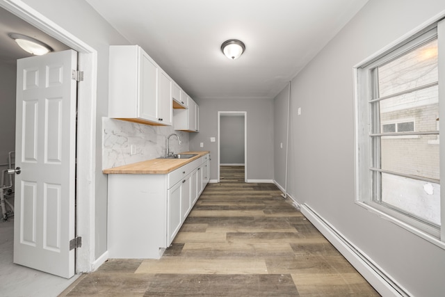
{"type": "MultiPolygon", "coordinates": [[[[108,22],[83,0],[24,0],[66,31],[97,50],[95,256],[106,252],[107,176],[102,173],[102,117],[108,115],[108,47],[128,45],[108,22]],[[81,21],[79,21],[79,19],[81,21]]],[[[81,104],[81,103],[79,103],[81,104]]]]}

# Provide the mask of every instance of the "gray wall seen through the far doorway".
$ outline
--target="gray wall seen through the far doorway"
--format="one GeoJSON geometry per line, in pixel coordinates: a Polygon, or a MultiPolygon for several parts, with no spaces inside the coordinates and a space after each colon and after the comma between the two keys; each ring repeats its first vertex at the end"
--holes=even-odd
{"type": "Polygon", "coordinates": [[[220,163],[244,164],[244,115],[221,115],[220,163]]]}

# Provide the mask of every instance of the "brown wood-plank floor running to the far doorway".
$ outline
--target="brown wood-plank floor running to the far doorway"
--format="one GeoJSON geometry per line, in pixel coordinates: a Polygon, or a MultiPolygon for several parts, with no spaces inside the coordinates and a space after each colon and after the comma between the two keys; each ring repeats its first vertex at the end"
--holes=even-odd
{"type": "Polygon", "coordinates": [[[161,259],[109,259],[61,296],[380,296],[275,184],[245,184],[243,170],[222,168],[161,259]]]}

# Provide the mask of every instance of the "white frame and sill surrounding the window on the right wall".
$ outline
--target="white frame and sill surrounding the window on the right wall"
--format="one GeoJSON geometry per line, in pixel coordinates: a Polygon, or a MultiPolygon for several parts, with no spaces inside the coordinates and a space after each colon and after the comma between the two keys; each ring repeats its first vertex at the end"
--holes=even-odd
{"type": "MultiPolygon", "coordinates": [[[[376,65],[382,64],[382,60],[388,61],[419,45],[419,38],[428,40],[437,34],[439,45],[439,117],[445,119],[445,12],[430,19],[428,22],[407,33],[373,56],[354,66],[355,79],[355,203],[368,209],[374,214],[399,225],[410,232],[421,236],[423,239],[445,249],[445,188],[441,191],[441,225],[423,223],[411,218],[401,211],[396,211],[385,205],[373,201],[371,197],[373,183],[371,182],[371,108],[369,98],[372,98],[372,72],[376,65]],[[435,29],[437,28],[437,29],[435,29]],[[378,61],[378,62],[376,62],[378,61]],[[440,65],[442,64],[442,67],[440,65]]],[[[382,123],[379,123],[381,125],[382,123]]],[[[386,123],[385,123],[386,124],[386,123]]],[[[440,130],[445,131],[445,121],[439,122],[440,130]]],[[[388,136],[385,136],[388,137],[388,136]]],[[[439,147],[439,170],[445,176],[445,145],[439,147]]]]}

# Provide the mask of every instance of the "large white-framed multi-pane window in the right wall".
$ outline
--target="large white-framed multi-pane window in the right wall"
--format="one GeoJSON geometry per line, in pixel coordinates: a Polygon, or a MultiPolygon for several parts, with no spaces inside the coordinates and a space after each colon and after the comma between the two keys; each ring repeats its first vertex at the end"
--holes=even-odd
{"type": "Polygon", "coordinates": [[[441,26],[355,68],[357,202],[437,239],[445,203],[439,182],[439,160],[445,159],[439,145],[441,26]]]}

